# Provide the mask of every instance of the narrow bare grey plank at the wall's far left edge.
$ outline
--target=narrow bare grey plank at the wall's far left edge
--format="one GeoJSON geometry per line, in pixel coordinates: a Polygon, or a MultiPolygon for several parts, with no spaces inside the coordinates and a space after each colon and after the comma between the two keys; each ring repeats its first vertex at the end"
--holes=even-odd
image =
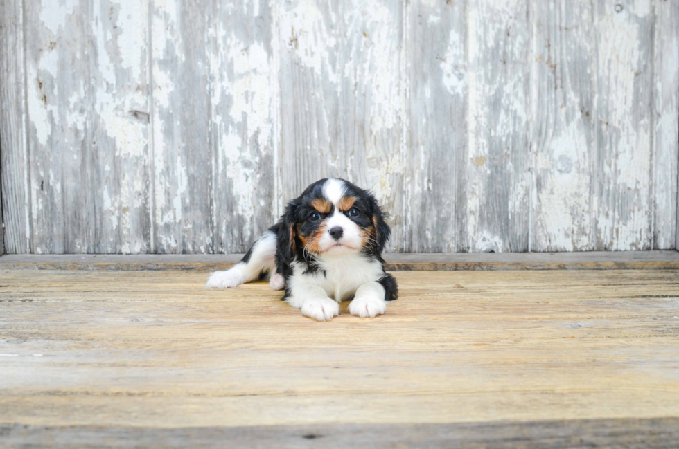
{"type": "Polygon", "coordinates": [[[23,5],[0,0],[0,246],[7,253],[30,250],[23,5]]]}

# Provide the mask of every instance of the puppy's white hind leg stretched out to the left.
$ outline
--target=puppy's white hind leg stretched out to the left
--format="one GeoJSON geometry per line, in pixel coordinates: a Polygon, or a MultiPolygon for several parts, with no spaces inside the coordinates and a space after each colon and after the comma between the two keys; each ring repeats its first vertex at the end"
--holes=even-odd
{"type": "MultiPolygon", "coordinates": [[[[231,288],[245,282],[258,280],[263,273],[276,269],[276,234],[272,230],[264,232],[252,245],[245,257],[227,271],[215,271],[207,280],[207,288],[231,288]]],[[[280,275],[279,275],[280,276],[280,275]]],[[[272,279],[276,275],[272,276],[272,279]]],[[[282,279],[282,276],[281,276],[282,279]]],[[[283,280],[283,284],[285,280],[283,280]]],[[[273,287],[272,287],[273,288],[273,287]]]]}

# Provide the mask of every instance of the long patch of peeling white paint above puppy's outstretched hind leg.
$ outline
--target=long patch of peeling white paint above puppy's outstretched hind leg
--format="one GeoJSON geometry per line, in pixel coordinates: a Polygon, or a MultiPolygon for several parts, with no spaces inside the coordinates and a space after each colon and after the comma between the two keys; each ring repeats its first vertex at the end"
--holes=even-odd
{"type": "MultiPolygon", "coordinates": [[[[254,3],[258,8],[258,0],[254,3]]],[[[241,40],[236,30],[222,21],[209,29],[209,37],[216,49],[209,53],[210,72],[215,74],[210,86],[217,130],[215,176],[218,186],[226,185],[236,203],[235,208],[224,210],[215,201],[215,217],[227,216],[220,226],[226,229],[227,222],[236,217],[252,223],[261,213],[255,202],[262,181],[257,167],[260,155],[272,151],[272,61],[265,43],[241,40]]],[[[218,198],[221,195],[216,194],[218,198]]]]}

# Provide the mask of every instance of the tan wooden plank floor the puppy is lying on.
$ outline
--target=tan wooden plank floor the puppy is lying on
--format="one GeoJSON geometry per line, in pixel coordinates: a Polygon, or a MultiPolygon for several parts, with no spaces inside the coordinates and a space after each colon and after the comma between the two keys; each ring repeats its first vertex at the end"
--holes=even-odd
{"type": "Polygon", "coordinates": [[[92,429],[120,447],[134,446],[119,432],[157,443],[191,428],[220,441],[231,429],[238,447],[342,447],[350,431],[421,432],[427,447],[489,428],[505,442],[679,437],[678,271],[400,271],[387,315],[344,303],[331,322],[263,282],[206,290],[206,275],[0,271],[0,446],[80,447],[92,429]]]}

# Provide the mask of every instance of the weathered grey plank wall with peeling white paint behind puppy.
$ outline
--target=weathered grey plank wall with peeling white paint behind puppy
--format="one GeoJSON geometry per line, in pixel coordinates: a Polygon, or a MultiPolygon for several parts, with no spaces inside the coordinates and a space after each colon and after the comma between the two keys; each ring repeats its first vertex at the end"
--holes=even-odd
{"type": "Polygon", "coordinates": [[[7,253],[242,252],[308,183],[391,249],[677,246],[679,0],[0,0],[7,253]]]}

